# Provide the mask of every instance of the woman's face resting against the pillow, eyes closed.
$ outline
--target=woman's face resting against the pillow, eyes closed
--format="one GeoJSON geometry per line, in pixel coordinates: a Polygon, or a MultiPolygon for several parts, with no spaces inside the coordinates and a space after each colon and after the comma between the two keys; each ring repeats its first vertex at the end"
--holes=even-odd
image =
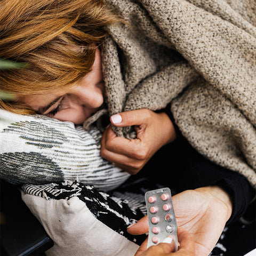
{"type": "Polygon", "coordinates": [[[83,122],[94,114],[103,103],[105,84],[102,78],[100,51],[97,49],[92,71],[70,89],[32,94],[19,97],[19,101],[30,106],[38,114],[54,117],[74,124],[83,122]]]}

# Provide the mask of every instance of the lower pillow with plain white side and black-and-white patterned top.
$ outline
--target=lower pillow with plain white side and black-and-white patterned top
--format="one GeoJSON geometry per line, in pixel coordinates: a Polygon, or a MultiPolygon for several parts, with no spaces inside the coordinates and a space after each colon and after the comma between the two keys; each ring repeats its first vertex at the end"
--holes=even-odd
{"type": "Polygon", "coordinates": [[[54,242],[47,256],[133,256],[146,239],[126,231],[146,214],[142,194],[106,194],[77,182],[22,189],[23,201],[54,242]]]}

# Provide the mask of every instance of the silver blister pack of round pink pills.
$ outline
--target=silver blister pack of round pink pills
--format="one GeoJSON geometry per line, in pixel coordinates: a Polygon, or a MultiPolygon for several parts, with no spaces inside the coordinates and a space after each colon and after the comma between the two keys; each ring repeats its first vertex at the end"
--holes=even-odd
{"type": "Polygon", "coordinates": [[[147,191],[145,201],[148,213],[148,247],[172,237],[178,250],[177,222],[172,205],[170,188],[147,191]]]}

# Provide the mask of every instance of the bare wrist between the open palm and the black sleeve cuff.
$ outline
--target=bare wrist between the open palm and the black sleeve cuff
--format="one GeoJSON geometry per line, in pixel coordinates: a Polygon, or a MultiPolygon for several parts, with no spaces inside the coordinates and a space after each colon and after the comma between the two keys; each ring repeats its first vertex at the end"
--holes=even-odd
{"type": "Polygon", "coordinates": [[[195,190],[201,193],[207,193],[211,195],[213,200],[220,203],[223,206],[223,208],[225,208],[226,210],[225,211],[227,213],[226,220],[228,221],[233,210],[233,205],[232,205],[231,197],[224,189],[222,189],[219,186],[207,186],[207,187],[197,188],[195,190]]]}

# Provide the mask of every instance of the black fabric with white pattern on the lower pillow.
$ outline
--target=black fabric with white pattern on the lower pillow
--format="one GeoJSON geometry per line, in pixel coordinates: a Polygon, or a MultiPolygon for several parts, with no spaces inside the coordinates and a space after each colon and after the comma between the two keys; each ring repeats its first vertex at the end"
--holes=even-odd
{"type": "MultiPolygon", "coordinates": [[[[163,186],[150,183],[147,179],[140,179],[109,193],[78,182],[23,185],[22,189],[26,194],[42,197],[48,201],[61,199],[68,201],[70,198],[78,197],[79,200],[86,204],[95,221],[104,223],[114,233],[140,245],[146,239],[146,234],[132,236],[127,233],[126,228],[147,214],[144,198],[146,191],[160,187],[163,186]]],[[[211,256],[226,255],[225,233],[227,229],[225,227],[223,230],[218,243],[210,254],[211,256]]]]}

